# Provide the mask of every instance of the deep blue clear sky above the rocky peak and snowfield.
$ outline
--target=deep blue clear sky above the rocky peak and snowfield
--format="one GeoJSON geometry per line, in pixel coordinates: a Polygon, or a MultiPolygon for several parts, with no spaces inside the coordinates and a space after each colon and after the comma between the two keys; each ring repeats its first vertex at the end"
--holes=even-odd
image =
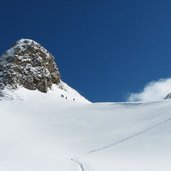
{"type": "Polygon", "coordinates": [[[1,0],[0,53],[20,38],[44,45],[91,101],[124,101],[171,76],[169,0],[1,0]]]}

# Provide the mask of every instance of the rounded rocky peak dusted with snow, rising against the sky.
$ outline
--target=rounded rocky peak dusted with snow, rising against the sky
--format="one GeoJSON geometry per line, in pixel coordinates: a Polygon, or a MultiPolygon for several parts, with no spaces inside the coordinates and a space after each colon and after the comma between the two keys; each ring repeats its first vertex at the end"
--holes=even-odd
{"type": "Polygon", "coordinates": [[[46,93],[52,84],[60,83],[60,73],[54,57],[40,44],[21,39],[0,58],[0,89],[16,89],[46,93]]]}

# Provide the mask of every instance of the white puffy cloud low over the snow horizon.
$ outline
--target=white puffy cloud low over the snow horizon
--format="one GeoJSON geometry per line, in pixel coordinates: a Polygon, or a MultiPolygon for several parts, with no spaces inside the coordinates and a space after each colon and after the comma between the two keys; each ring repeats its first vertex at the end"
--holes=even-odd
{"type": "Polygon", "coordinates": [[[161,100],[171,92],[171,78],[160,79],[148,83],[141,92],[131,93],[128,101],[155,101],[161,100]]]}

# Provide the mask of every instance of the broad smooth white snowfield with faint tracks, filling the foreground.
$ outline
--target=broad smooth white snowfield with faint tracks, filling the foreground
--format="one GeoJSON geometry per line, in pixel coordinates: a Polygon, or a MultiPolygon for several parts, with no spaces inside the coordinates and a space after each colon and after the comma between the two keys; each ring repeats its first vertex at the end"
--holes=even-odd
{"type": "Polygon", "coordinates": [[[171,170],[171,101],[92,104],[33,92],[0,101],[0,170],[171,170]]]}

